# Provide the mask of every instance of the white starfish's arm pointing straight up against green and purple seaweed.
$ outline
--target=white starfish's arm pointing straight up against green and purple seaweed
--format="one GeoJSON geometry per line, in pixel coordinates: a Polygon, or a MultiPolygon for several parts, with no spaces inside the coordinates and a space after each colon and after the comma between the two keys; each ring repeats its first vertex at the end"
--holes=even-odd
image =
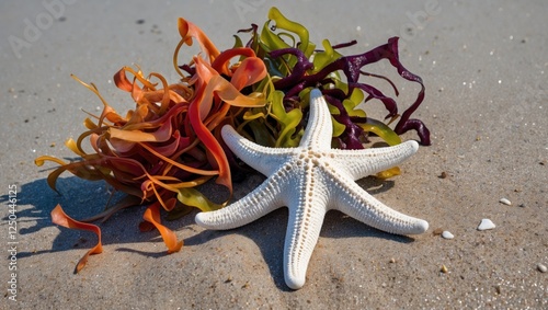
{"type": "Polygon", "coordinates": [[[331,113],[329,113],[328,103],[318,89],[310,92],[310,116],[308,119],[299,146],[317,150],[331,149],[331,136],[333,135],[331,113]]]}

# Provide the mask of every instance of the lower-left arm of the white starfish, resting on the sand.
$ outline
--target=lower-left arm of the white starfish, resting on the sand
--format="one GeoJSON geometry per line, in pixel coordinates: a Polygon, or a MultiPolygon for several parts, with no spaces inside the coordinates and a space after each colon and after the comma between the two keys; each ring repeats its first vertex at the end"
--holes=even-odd
{"type": "Polygon", "coordinates": [[[266,179],[253,192],[222,209],[198,213],[195,221],[201,227],[215,230],[238,228],[252,222],[284,205],[286,174],[277,173],[266,179]]]}

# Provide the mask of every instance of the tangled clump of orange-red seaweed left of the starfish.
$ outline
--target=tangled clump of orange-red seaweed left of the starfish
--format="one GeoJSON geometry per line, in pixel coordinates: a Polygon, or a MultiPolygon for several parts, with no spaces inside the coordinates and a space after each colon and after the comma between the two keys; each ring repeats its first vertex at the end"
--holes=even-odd
{"type": "MultiPolygon", "coordinates": [[[[47,179],[56,192],[57,179],[68,171],[89,181],[104,180],[114,190],[140,199],[137,203],[128,198],[130,203],[123,202],[118,206],[150,205],[145,219],[160,232],[169,253],[179,251],[183,243],[161,225],[160,210],[171,211],[176,204],[212,210],[226,204],[212,203],[194,187],[215,177],[216,183],[226,186],[231,195],[229,161],[213,131],[218,131],[217,126],[232,122],[232,107],[263,106],[264,93],[243,94],[241,90],[267,78],[264,62],[251,48],[237,47],[219,53],[195,24],[179,19],[178,26],[181,42],[173,59],[175,70],[182,76],[181,81],[169,84],[159,73],[146,76],[138,67],[123,67],[114,74],[114,83],[130,94],[135,108],[122,115],[93,83],[88,84],[72,76],[100,99],[103,111],[98,116],[90,114],[85,118],[88,130],[76,141],[66,141],[67,148],[81,160],[65,162],[49,156],[35,160],[37,165],[45,161],[59,164],[47,179]],[[179,49],[194,41],[204,58],[195,56],[185,65],[192,68],[191,72],[184,74],[176,65],[179,49]],[[230,65],[230,60],[237,57],[237,62],[230,65]],[[92,152],[84,150],[87,139],[92,152]]],[[[112,207],[90,220],[105,220],[121,208],[112,207]]],[[[65,214],[59,216],[57,208],[54,215],[54,222],[68,218],[65,214]]],[[[84,227],[78,223],[78,227],[84,227]]],[[[83,264],[78,265],[79,269],[87,256],[82,259],[83,264]]]]}

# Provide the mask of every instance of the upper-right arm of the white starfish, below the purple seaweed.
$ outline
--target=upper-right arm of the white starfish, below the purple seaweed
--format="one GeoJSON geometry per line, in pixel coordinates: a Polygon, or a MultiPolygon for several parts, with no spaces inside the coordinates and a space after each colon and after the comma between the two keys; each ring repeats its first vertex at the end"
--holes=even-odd
{"type": "Polygon", "coordinates": [[[354,180],[398,165],[419,150],[419,143],[409,140],[393,147],[363,150],[330,150],[332,160],[354,180]]]}

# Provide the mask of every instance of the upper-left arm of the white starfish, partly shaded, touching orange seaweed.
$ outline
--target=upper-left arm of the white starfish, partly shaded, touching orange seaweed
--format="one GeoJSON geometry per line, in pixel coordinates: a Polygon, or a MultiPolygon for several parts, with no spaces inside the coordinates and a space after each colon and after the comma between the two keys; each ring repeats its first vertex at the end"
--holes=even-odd
{"type": "Polygon", "coordinates": [[[225,143],[237,157],[264,175],[275,173],[295,151],[293,148],[260,146],[240,136],[229,125],[222,127],[221,135],[225,143]]]}

